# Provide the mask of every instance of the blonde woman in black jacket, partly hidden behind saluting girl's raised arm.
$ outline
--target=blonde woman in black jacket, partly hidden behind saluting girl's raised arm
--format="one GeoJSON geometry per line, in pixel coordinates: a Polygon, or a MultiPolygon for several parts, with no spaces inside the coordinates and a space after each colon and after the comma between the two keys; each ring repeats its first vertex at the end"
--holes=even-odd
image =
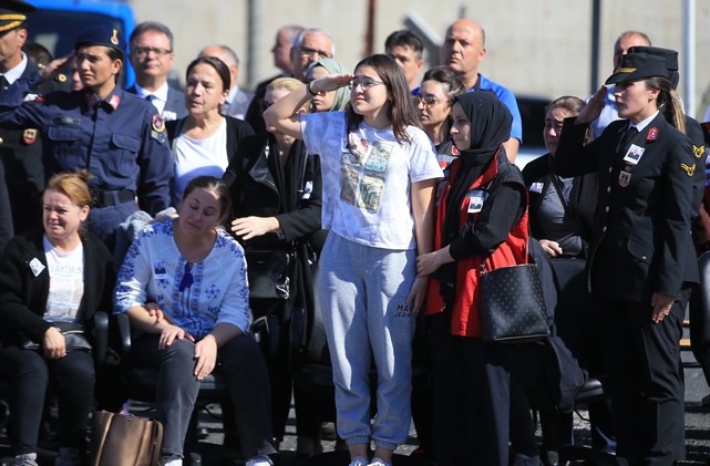
{"type": "MultiPolygon", "coordinates": [[[[300,87],[303,83],[296,79],[276,79],[267,86],[265,105],[300,87]]],[[[305,104],[298,112],[306,113],[307,108],[305,104]]],[[[223,180],[234,199],[231,231],[244,245],[249,265],[249,307],[255,319],[272,319],[269,332],[279,335],[278,349],[268,364],[274,436],[280,441],[291,402],[291,310],[295,306],[312,306],[307,240],[320,230],[320,162],[308,155],[301,141],[267,126],[267,132],[240,142],[223,180]],[[286,257],[288,261],[281,261],[286,257]],[[270,289],[272,293],[265,294],[255,283],[268,277],[259,276],[255,261],[270,259],[281,261],[284,267],[279,283],[270,289]]]]}

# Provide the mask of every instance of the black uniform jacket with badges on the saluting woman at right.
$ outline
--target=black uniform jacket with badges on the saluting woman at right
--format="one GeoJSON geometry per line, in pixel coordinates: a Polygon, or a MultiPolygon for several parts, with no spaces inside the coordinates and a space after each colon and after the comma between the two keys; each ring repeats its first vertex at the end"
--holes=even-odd
{"type": "Polygon", "coordinates": [[[584,146],[587,125],[567,118],[554,158],[555,173],[598,173],[589,278],[591,291],[611,299],[650,302],[654,292],[678,297],[698,281],[690,220],[698,211],[697,170],[692,143],[662,114],[630,144],[644,149],[637,164],[618,151],[627,120],[611,123],[584,146]]]}

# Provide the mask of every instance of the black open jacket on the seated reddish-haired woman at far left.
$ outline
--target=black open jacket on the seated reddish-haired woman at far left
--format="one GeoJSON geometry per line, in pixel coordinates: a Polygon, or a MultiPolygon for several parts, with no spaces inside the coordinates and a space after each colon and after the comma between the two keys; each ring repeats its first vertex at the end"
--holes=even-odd
{"type": "MultiPolygon", "coordinates": [[[[94,235],[82,234],[84,246],[84,296],[79,315],[91,329],[96,311],[111,313],[111,293],[115,284],[111,253],[94,235]]],[[[0,340],[3,345],[19,343],[23,333],[42,343],[52,324],[42,317],[47,308],[50,276],[42,245],[42,231],[14,237],[6,248],[0,263],[0,340]],[[37,276],[30,268],[38,259],[44,269],[37,276]]]]}

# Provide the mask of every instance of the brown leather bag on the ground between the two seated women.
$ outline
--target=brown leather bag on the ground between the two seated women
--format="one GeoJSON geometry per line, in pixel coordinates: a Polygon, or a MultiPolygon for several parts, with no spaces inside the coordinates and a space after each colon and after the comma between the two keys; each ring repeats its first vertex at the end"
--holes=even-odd
{"type": "Polygon", "coordinates": [[[163,424],[155,420],[96,411],[91,431],[91,465],[156,466],[163,424]]]}

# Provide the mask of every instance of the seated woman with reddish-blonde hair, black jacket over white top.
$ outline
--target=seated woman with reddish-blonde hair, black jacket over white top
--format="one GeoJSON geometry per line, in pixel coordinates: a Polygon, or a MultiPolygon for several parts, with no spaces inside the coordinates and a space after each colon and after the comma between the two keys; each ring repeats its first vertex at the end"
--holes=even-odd
{"type": "Polygon", "coordinates": [[[111,307],[113,266],[85,230],[89,173],[60,174],[44,190],[44,229],[13,238],[0,262],[0,371],[10,382],[13,465],[37,466],[48,385],[59,401],[60,466],[79,465],[95,371],[91,324],[111,307]],[[80,333],[70,345],[63,331],[80,333]],[[81,348],[80,348],[81,346],[81,348]]]}

